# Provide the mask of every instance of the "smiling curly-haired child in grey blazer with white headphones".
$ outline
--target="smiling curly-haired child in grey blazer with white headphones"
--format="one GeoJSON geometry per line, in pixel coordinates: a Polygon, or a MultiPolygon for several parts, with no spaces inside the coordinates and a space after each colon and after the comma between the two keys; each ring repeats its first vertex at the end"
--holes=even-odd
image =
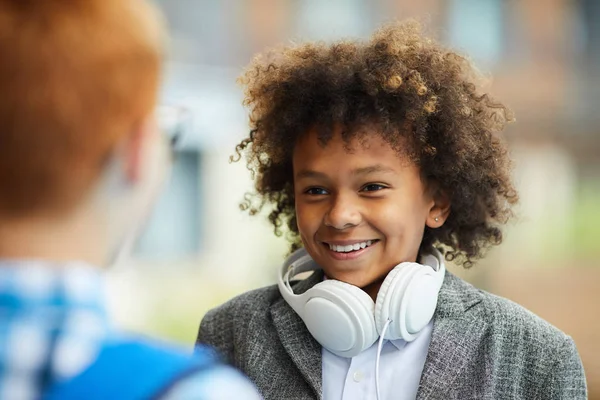
{"type": "Polygon", "coordinates": [[[279,285],[210,311],[198,343],[267,399],[585,398],[569,336],[445,272],[500,244],[518,200],[512,116],[478,78],[413,22],[256,57],[244,206],[273,205],[296,252],[279,285]]]}

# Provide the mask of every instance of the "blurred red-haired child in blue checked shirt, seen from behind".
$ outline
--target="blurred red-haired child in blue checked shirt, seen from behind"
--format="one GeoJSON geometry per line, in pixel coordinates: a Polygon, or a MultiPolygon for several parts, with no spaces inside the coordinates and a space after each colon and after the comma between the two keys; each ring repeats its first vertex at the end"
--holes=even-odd
{"type": "Polygon", "coordinates": [[[103,267],[167,176],[161,19],[141,0],[0,0],[0,398],[258,398],[204,350],[125,337],[103,267]]]}

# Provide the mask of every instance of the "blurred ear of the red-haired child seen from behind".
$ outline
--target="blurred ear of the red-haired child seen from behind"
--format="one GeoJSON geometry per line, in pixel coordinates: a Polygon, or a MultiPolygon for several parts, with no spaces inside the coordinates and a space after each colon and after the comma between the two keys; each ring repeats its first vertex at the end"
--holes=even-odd
{"type": "Polygon", "coordinates": [[[145,149],[151,138],[153,120],[148,117],[136,122],[124,140],[125,177],[129,183],[137,183],[142,176],[145,149]]]}

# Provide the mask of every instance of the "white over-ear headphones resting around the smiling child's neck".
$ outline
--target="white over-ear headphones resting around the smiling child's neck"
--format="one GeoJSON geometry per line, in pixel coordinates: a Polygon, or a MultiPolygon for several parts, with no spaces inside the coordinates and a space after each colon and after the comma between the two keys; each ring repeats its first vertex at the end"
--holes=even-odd
{"type": "Polygon", "coordinates": [[[311,335],[327,350],[341,357],[354,357],[379,338],[414,340],[435,312],[444,281],[442,255],[436,249],[421,257],[421,264],[403,262],[383,281],[377,301],[360,288],[327,279],[306,292],[294,294],[290,279],[299,273],[319,270],[305,249],[296,250],[278,276],[281,295],[302,318],[311,335]]]}

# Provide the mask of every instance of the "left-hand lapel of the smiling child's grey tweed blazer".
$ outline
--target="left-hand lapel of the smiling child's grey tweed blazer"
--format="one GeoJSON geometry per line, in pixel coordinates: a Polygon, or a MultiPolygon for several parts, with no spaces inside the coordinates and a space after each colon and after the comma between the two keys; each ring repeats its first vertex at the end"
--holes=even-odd
{"type": "MultiPolygon", "coordinates": [[[[310,277],[295,284],[294,293],[304,293],[322,280],[323,273],[316,271],[310,277]]],[[[273,304],[271,316],[286,352],[315,391],[316,397],[321,398],[323,392],[321,345],[312,337],[304,321],[283,298],[273,304]]]]}

